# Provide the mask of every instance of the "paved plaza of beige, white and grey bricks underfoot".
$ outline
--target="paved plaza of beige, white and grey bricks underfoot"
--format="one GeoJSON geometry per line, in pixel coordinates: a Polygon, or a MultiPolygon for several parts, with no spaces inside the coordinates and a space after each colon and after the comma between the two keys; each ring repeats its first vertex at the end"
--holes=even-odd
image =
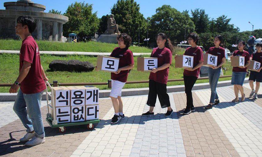
{"type": "MultiPolygon", "coordinates": [[[[170,93],[174,110],[157,101],[154,116],[148,111],[147,95],[122,97],[125,118],[111,125],[114,114],[109,98],[99,99],[100,123],[90,131],[87,126],[67,127],[65,133],[45,121],[47,106],[42,101],[46,142],[25,146],[19,139],[25,128],[13,111],[13,102],[0,102],[0,155],[3,156],[262,156],[262,93],[248,98],[251,89],[244,84],[246,100],[232,103],[233,86],[217,88],[220,104],[205,110],[210,89],[193,91],[196,111],[181,112],[186,106],[184,92],[170,93]]],[[[241,97],[239,95],[239,97],[241,97]]]]}

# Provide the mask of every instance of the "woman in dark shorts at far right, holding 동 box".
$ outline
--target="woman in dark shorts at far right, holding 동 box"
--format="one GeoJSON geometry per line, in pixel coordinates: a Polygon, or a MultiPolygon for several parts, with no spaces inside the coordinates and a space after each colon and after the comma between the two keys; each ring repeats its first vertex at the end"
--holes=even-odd
{"type": "MultiPolygon", "coordinates": [[[[260,62],[262,64],[261,47],[262,47],[262,44],[257,43],[257,45],[256,45],[257,52],[255,54],[252,53],[250,59],[257,61],[257,62],[260,62]]],[[[249,75],[249,85],[252,89],[249,96],[254,95],[255,99],[257,99],[257,93],[258,93],[258,90],[259,90],[259,87],[260,87],[260,82],[262,82],[262,72],[261,72],[262,66],[261,66],[261,64],[260,64],[260,67],[259,67],[257,72],[251,71],[250,75],[249,75]],[[254,81],[256,81],[256,90],[254,90],[254,81]]]]}

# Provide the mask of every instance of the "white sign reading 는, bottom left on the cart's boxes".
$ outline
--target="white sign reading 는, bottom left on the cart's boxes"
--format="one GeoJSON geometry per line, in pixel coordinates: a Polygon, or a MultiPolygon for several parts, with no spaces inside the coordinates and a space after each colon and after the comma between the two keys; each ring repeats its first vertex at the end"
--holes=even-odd
{"type": "Polygon", "coordinates": [[[70,106],[56,107],[57,123],[71,122],[70,120],[70,106]]]}

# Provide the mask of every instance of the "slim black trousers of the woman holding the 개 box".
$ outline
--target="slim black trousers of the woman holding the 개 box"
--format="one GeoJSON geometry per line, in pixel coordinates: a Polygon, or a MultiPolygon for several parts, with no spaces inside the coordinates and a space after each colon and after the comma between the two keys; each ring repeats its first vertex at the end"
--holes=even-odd
{"type": "Polygon", "coordinates": [[[186,109],[191,109],[193,105],[192,97],[192,88],[197,80],[195,76],[185,76],[184,75],[184,84],[185,84],[185,94],[186,94],[186,109]]]}

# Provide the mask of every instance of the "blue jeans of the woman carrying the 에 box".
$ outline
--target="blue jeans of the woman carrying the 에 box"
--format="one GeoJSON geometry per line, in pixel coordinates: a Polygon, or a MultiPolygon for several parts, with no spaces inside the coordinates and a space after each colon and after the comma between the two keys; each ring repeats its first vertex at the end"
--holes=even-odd
{"type": "Polygon", "coordinates": [[[214,103],[215,99],[218,99],[217,95],[217,82],[220,76],[221,67],[217,69],[208,68],[209,85],[211,89],[211,96],[209,103],[214,103]]]}

